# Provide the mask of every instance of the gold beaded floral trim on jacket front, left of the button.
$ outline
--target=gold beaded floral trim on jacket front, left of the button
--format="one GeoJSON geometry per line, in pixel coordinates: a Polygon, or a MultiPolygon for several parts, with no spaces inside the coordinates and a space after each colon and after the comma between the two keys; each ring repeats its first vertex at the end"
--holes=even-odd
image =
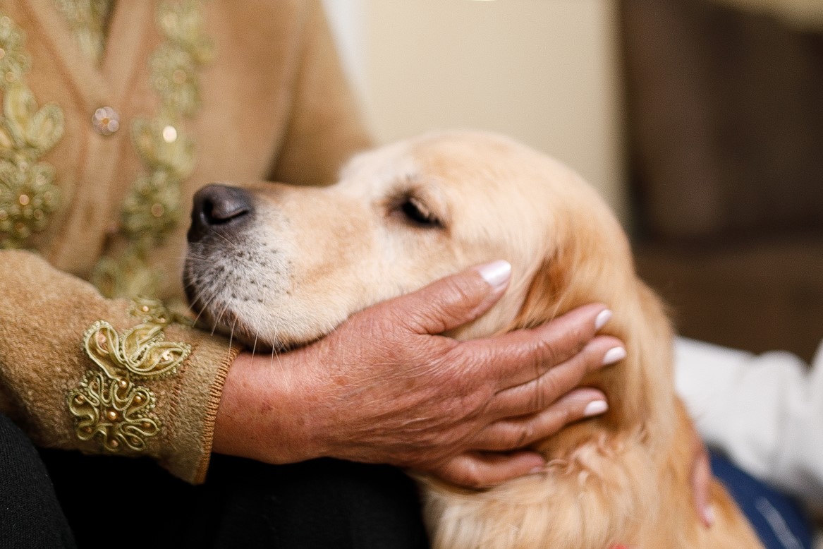
{"type": "Polygon", "coordinates": [[[0,12],[0,248],[21,248],[58,206],[54,169],[40,161],[63,137],[63,110],[38,107],[26,86],[26,33],[0,12]]]}

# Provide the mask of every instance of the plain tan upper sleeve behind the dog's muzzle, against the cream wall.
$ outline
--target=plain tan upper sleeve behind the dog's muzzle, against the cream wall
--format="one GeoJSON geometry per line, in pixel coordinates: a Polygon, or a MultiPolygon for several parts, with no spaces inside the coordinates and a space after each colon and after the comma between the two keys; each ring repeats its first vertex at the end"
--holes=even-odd
{"type": "Polygon", "coordinates": [[[309,2],[301,34],[290,119],[269,179],[322,185],[337,179],[346,160],[372,146],[357,101],[316,0],[309,2]]]}

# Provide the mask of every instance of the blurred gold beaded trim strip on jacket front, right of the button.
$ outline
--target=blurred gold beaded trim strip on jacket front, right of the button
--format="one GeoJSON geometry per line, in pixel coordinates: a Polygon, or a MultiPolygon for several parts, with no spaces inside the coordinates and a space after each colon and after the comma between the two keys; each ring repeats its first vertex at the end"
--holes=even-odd
{"type": "Polygon", "coordinates": [[[184,128],[200,109],[198,71],[212,58],[203,34],[201,0],[160,2],[156,25],[163,42],[151,56],[151,86],[160,98],[153,119],[136,119],[132,142],[146,173],[128,193],[120,234],[128,246],[118,258],[97,263],[93,281],[103,295],[156,295],[159,278],[149,267],[151,251],[178,225],[183,212],[180,188],[192,174],[195,146],[184,128]]]}

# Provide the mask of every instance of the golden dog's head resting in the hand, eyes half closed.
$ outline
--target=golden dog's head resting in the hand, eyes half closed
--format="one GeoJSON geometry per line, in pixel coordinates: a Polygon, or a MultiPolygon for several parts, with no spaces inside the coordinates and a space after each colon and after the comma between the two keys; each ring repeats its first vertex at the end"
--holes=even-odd
{"type": "Polygon", "coordinates": [[[592,301],[615,310],[611,332],[629,346],[665,324],[597,193],[565,165],[488,133],[365,152],[327,188],[209,186],[188,236],[193,307],[258,347],[310,342],[360,309],[498,258],[513,266],[509,290],[455,337],[592,301]]]}

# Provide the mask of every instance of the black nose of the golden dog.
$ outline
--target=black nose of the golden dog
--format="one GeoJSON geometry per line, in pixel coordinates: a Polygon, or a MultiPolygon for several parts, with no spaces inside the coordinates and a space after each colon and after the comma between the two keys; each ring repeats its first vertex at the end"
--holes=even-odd
{"type": "Polygon", "coordinates": [[[188,241],[198,242],[213,232],[235,230],[249,221],[252,212],[252,197],[248,191],[221,184],[207,185],[194,195],[188,241]]]}

